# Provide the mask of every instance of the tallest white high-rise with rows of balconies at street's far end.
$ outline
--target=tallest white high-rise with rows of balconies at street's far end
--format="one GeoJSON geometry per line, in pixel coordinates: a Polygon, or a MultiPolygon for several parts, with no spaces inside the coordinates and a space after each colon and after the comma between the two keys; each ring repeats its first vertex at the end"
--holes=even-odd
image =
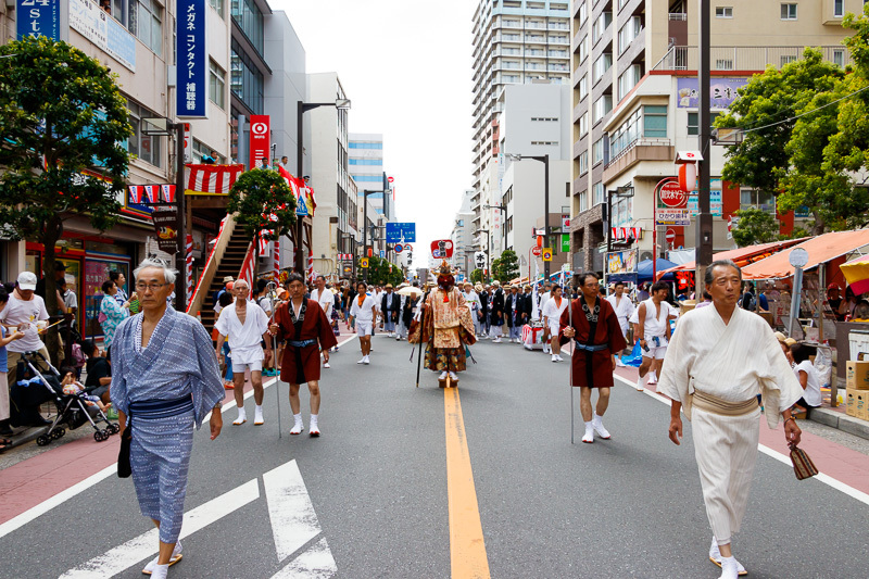
{"type": "Polygon", "coordinates": [[[503,251],[503,216],[484,209],[500,203],[504,159],[500,151],[499,97],[505,86],[570,77],[570,13],[568,2],[554,0],[480,0],[473,17],[474,56],[474,230],[479,247],[492,259],[503,251]]]}

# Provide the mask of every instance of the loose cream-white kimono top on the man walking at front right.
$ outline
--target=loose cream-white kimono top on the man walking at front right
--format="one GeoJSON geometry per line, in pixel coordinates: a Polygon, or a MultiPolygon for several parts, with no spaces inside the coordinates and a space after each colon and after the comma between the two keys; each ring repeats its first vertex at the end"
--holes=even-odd
{"type": "Polygon", "coordinates": [[[681,402],[690,420],[695,390],[729,402],[763,394],[770,428],[803,395],[772,328],[741,307],[733,310],[728,324],[715,306],[694,309],[679,318],[657,391],[681,402]]]}

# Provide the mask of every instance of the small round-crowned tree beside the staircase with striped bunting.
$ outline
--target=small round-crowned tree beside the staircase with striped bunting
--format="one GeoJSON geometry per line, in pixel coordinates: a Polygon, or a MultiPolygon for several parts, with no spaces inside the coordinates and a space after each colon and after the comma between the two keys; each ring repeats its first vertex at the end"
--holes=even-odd
{"type": "Polygon", "coordinates": [[[236,214],[244,236],[253,241],[253,259],[259,263],[260,238],[273,241],[289,235],[295,224],[295,196],[277,171],[255,168],[232,184],[226,211],[236,214]]]}

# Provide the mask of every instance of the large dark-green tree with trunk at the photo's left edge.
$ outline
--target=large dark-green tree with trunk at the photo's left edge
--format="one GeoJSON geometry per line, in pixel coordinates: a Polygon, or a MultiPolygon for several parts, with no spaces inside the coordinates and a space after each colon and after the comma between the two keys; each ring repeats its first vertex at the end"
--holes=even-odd
{"type": "MultiPolygon", "coordinates": [[[[47,295],[56,291],[64,221],[87,215],[105,231],[119,218],[133,127],[115,77],[66,42],[26,37],[0,47],[0,223],[7,238],[45,248],[47,295]]],[[[46,307],[56,314],[58,301],[46,307]]],[[[56,333],[48,345],[58,350],[56,333]]]]}

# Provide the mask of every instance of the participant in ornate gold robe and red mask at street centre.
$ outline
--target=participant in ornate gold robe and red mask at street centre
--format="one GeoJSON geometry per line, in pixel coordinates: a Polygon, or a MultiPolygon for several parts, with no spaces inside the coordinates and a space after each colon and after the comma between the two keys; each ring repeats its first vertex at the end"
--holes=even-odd
{"type": "Polygon", "coordinates": [[[455,277],[445,260],[438,270],[438,287],[429,292],[423,310],[419,336],[420,341],[427,342],[426,367],[441,373],[438,376],[441,388],[445,388],[448,376],[451,386],[456,386],[456,373],[466,368],[465,344],[476,343],[477,338],[470,309],[455,287],[455,277]]]}

